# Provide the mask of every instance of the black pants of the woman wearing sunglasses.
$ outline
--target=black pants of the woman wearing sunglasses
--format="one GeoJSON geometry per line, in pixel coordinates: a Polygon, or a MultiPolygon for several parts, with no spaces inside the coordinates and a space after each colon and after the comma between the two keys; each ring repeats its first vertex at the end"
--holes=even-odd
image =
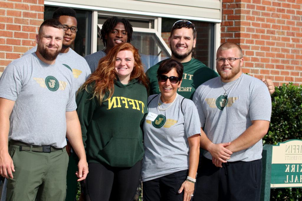
{"type": "Polygon", "coordinates": [[[144,201],[182,201],[184,191],[178,193],[178,190],[186,180],[187,175],[188,170],[182,170],[143,182],[144,201]]]}

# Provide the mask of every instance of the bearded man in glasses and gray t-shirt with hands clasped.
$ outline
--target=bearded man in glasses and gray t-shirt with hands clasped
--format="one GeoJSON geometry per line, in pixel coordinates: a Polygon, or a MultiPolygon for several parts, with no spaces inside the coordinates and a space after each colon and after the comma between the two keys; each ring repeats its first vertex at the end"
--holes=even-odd
{"type": "Polygon", "coordinates": [[[197,174],[196,200],[259,200],[262,137],[271,117],[271,97],[259,79],[242,73],[241,48],[217,50],[213,78],[194,93],[206,151],[197,174]],[[204,130],[204,131],[203,131],[204,130]]]}

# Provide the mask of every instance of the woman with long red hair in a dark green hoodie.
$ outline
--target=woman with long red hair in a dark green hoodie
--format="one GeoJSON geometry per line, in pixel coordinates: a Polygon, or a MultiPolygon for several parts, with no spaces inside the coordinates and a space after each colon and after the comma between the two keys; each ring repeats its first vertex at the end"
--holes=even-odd
{"type": "Polygon", "coordinates": [[[76,102],[89,174],[85,197],[130,201],[140,177],[147,78],[138,50],[114,46],[79,90],[76,102]]]}

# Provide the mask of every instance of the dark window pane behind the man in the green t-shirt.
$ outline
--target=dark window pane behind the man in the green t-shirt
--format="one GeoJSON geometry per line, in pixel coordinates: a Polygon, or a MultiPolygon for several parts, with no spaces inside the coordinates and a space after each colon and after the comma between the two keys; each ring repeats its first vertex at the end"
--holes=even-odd
{"type": "MultiPolygon", "coordinates": [[[[168,38],[173,24],[178,19],[162,18],[162,38],[169,45],[168,38]]],[[[192,51],[192,57],[198,59],[209,68],[213,69],[214,48],[214,23],[189,20],[195,25],[197,32],[196,48],[192,51]]]]}

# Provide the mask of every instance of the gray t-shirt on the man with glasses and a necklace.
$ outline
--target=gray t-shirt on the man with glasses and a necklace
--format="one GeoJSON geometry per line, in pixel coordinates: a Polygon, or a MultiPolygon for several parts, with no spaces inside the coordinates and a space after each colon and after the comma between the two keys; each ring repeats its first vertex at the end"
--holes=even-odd
{"type": "MultiPolygon", "coordinates": [[[[242,74],[237,80],[222,83],[220,77],[201,84],[193,96],[201,127],[215,144],[238,138],[254,120],[271,120],[271,96],[267,86],[259,79],[242,74]],[[227,90],[227,101],[224,89],[227,90]],[[222,110],[221,110],[222,109],[222,110]]],[[[262,158],[262,140],[235,152],[230,162],[253,161],[262,158]]],[[[204,152],[212,159],[210,152],[204,152]]]]}

